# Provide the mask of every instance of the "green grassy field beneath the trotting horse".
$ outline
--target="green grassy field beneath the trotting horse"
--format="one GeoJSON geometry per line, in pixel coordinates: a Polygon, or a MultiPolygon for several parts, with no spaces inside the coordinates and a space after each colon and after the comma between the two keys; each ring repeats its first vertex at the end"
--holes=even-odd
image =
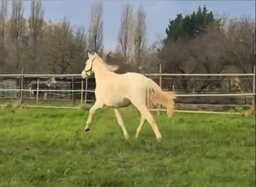
{"type": "Polygon", "coordinates": [[[128,141],[109,108],[83,132],[88,110],[0,108],[0,186],[255,186],[255,122],[240,115],[156,117],[162,141],[121,110],[128,141]]]}

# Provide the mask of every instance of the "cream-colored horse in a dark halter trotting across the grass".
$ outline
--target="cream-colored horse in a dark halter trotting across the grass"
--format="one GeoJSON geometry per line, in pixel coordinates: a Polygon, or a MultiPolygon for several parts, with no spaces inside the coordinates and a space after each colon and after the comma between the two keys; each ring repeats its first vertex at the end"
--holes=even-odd
{"type": "Polygon", "coordinates": [[[156,135],[156,139],[160,140],[162,135],[148,107],[156,104],[165,105],[168,117],[171,117],[174,112],[176,96],[173,93],[162,91],[153,80],[139,73],[114,73],[117,69],[117,66],[106,64],[97,53],[88,53],[88,61],[86,61],[85,69],[82,71],[82,78],[85,79],[94,74],[96,102],[90,108],[85,131],[90,130],[94,112],[106,105],[114,108],[115,117],[123,129],[124,137],[128,138],[129,135],[118,108],[132,104],[141,113],[141,122],[135,137],[137,138],[140,134],[144,120],[147,120],[156,135]]]}

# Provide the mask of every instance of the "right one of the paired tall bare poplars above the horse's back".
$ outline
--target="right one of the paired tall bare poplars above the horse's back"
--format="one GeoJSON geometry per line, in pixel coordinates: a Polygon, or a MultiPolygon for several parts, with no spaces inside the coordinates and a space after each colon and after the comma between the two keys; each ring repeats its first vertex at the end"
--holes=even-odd
{"type": "Polygon", "coordinates": [[[133,33],[134,61],[137,67],[142,65],[142,53],[146,42],[146,29],[146,13],[143,7],[140,6],[135,16],[135,30],[133,33]]]}

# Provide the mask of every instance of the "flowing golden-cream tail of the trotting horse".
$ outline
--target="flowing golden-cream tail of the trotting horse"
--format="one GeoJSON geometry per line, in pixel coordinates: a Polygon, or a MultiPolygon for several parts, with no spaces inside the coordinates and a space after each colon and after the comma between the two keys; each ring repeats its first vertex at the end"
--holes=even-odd
{"type": "Polygon", "coordinates": [[[174,93],[162,91],[159,85],[157,85],[156,82],[153,82],[152,79],[149,79],[148,81],[146,98],[148,108],[152,108],[159,104],[164,105],[165,108],[167,108],[168,117],[171,117],[174,113],[174,99],[176,99],[176,96],[174,93]]]}

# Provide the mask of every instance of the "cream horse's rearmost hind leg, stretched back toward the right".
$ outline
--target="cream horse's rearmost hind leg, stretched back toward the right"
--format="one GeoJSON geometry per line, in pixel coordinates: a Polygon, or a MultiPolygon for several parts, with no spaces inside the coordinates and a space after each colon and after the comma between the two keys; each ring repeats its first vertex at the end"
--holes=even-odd
{"type": "MultiPolygon", "coordinates": [[[[153,132],[156,135],[156,139],[160,141],[162,139],[162,135],[159,132],[156,120],[153,118],[153,115],[150,113],[147,106],[139,102],[138,103],[133,102],[132,104],[135,105],[138,111],[141,112],[141,115],[144,117],[144,119],[146,119],[147,122],[150,123],[150,126],[152,127],[153,132]]],[[[142,128],[142,125],[141,125],[141,128],[142,128]]]]}

